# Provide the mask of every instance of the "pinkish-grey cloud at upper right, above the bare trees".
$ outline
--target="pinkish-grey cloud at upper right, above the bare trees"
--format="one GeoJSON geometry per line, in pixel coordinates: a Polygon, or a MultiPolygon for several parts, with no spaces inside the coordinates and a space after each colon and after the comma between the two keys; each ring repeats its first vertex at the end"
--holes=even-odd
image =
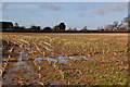
{"type": "Polygon", "coordinates": [[[122,12],[125,9],[125,4],[112,4],[107,7],[103,7],[102,9],[95,9],[95,14],[106,14],[109,12],[122,12]]]}

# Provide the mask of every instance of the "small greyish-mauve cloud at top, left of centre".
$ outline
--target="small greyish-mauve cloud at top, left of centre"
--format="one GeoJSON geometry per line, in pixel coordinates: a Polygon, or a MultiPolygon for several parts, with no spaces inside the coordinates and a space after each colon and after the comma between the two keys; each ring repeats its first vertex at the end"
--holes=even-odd
{"type": "Polygon", "coordinates": [[[51,3],[42,4],[41,8],[53,10],[53,11],[60,11],[63,9],[63,7],[61,7],[61,5],[55,5],[55,4],[51,4],[51,3]]]}

